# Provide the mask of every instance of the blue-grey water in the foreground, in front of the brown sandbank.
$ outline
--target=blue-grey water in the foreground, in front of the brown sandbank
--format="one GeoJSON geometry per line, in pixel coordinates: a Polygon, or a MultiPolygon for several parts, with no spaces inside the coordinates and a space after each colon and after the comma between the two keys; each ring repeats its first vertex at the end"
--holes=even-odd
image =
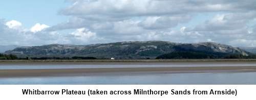
{"type": "Polygon", "coordinates": [[[89,76],[0,78],[0,84],[256,84],[256,72],[105,73],[89,76]]]}

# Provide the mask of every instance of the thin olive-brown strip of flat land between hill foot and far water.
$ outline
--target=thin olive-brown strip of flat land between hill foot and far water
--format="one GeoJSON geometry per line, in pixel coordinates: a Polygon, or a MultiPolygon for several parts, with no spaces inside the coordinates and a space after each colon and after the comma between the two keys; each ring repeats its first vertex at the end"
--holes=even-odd
{"type": "Polygon", "coordinates": [[[168,63],[168,62],[256,62],[256,59],[152,59],[152,60],[0,60],[8,63],[168,63]]]}

